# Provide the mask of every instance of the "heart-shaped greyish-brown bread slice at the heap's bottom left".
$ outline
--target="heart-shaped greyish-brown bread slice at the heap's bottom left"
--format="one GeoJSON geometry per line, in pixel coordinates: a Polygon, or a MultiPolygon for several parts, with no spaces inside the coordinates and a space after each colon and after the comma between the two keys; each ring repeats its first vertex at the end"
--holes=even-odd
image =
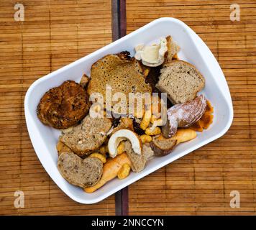
{"type": "Polygon", "coordinates": [[[63,152],[58,159],[58,170],[70,184],[86,188],[96,185],[101,179],[103,164],[97,158],[83,160],[73,152],[63,152]]]}

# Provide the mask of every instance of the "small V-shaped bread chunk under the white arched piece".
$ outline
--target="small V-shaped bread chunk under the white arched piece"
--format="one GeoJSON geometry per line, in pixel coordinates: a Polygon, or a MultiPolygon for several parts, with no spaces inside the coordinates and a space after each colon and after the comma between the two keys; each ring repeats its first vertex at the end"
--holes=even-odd
{"type": "Polygon", "coordinates": [[[129,141],[124,142],[124,149],[129,157],[129,160],[132,162],[132,171],[133,172],[140,172],[144,170],[145,165],[148,160],[150,160],[154,152],[152,151],[150,144],[143,144],[142,145],[142,154],[137,155],[132,149],[132,144],[129,141]]]}

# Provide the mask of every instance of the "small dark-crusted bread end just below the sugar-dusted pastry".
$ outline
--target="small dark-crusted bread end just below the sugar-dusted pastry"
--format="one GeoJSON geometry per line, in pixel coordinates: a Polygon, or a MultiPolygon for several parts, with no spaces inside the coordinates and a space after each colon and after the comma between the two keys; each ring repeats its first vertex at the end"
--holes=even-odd
{"type": "Polygon", "coordinates": [[[153,137],[150,146],[155,152],[156,156],[165,156],[172,152],[173,147],[175,146],[177,140],[165,138],[162,135],[159,137],[153,137]]]}

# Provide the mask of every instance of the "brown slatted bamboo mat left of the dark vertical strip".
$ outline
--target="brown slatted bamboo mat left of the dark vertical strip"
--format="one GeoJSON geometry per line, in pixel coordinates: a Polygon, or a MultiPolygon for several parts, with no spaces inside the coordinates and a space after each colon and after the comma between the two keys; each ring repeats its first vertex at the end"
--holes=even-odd
{"type": "Polygon", "coordinates": [[[24,94],[37,78],[111,42],[111,0],[0,1],[0,214],[114,215],[114,195],[81,205],[45,172],[29,140],[24,94]],[[24,208],[14,208],[14,192],[24,208]]]}

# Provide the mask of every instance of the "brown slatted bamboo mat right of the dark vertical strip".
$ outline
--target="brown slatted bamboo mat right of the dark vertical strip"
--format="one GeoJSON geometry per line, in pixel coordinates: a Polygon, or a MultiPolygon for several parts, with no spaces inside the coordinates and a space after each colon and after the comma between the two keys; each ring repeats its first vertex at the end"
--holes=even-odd
{"type": "Polygon", "coordinates": [[[182,20],[210,47],[229,84],[234,122],[221,139],[130,185],[129,214],[255,215],[256,2],[127,0],[127,33],[158,17],[182,20]],[[229,19],[234,3],[239,22],[229,19]],[[232,190],[240,208],[229,206],[232,190]]]}

